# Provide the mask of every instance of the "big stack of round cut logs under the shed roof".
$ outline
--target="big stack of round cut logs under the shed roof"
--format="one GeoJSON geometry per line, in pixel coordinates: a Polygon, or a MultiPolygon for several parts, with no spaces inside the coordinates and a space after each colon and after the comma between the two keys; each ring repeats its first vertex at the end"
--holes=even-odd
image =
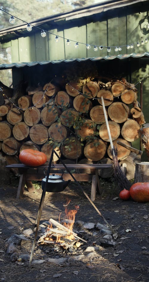
{"type": "MultiPolygon", "coordinates": [[[[14,89],[0,82],[0,150],[8,164],[17,163],[20,151],[32,148],[44,152],[49,160],[54,148],[66,163],[112,163],[111,145],[101,97],[118,160],[131,162],[128,149],[141,135],[144,115],[137,101],[137,89],[126,79],[89,81],[80,89],[77,82],[63,86],[14,89]]],[[[58,158],[54,154],[54,162],[58,158]]],[[[91,173],[90,171],[88,173],[91,173]]],[[[100,176],[106,176],[99,171],[100,176]]]]}

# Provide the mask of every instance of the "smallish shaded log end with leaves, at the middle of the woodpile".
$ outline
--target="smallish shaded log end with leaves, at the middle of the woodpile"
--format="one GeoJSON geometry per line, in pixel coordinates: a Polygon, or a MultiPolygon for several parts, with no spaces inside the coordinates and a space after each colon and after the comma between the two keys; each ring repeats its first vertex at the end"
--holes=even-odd
{"type": "Polygon", "coordinates": [[[64,126],[71,127],[78,116],[79,114],[75,109],[67,109],[60,115],[60,121],[64,126]]]}

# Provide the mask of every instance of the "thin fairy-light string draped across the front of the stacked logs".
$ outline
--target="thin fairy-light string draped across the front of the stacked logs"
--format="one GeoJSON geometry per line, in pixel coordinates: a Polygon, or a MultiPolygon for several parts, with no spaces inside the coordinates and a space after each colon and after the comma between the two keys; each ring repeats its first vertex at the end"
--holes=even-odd
{"type": "MultiPolygon", "coordinates": [[[[56,77],[56,75],[55,75],[55,77],[56,77]]],[[[129,92],[130,90],[134,90],[134,87],[136,87],[136,85],[138,85],[139,83],[141,83],[145,78],[148,78],[149,77],[149,73],[148,74],[146,74],[141,80],[139,80],[133,87],[131,87],[127,92],[129,92]]],[[[63,76],[62,76],[62,78],[63,78],[63,76]]],[[[39,101],[37,102],[37,103],[35,103],[33,106],[31,106],[31,107],[28,107],[28,108],[26,108],[26,109],[22,109],[22,108],[20,108],[20,107],[18,107],[17,105],[15,105],[14,104],[14,102],[11,100],[11,98],[8,98],[8,96],[4,93],[4,90],[2,89],[3,87],[0,87],[0,92],[2,92],[3,94],[2,95],[5,95],[6,97],[7,97],[7,99],[13,104],[13,106],[14,107],[16,107],[16,108],[18,108],[19,110],[27,110],[27,109],[33,109],[33,107],[35,107],[36,105],[38,105],[39,104],[39,102],[41,101],[41,99],[43,99],[45,96],[45,93],[46,93],[46,91],[48,91],[48,86],[49,86],[49,84],[51,84],[51,82],[53,81],[53,79],[54,79],[54,77],[51,79],[51,81],[47,84],[47,86],[46,86],[46,89],[45,89],[45,91],[44,91],[44,94],[42,95],[42,97],[39,99],[39,101]]],[[[67,84],[69,84],[69,86],[70,87],[72,87],[72,85],[69,83],[69,82],[66,82],[66,85],[67,84]]],[[[80,92],[80,91],[78,91],[76,88],[74,88],[74,87],[72,87],[72,90],[76,90],[77,92],[78,92],[78,95],[83,95],[83,96],[85,96],[85,98],[88,98],[88,99],[92,99],[92,100],[101,100],[101,98],[99,97],[99,98],[94,98],[94,97],[86,97],[86,95],[84,94],[84,93],[82,93],[82,92],[80,92]]],[[[125,92],[125,93],[127,93],[127,92],[125,92]]],[[[36,92],[37,93],[37,92],[36,92]]],[[[34,93],[35,94],[35,93],[34,93]]],[[[54,94],[55,95],[55,94],[54,94]]],[[[122,95],[122,93],[121,94],[119,94],[118,96],[114,96],[113,98],[119,98],[119,96],[121,96],[122,95]]],[[[52,98],[53,96],[51,96],[51,98],[52,98]]],[[[13,98],[13,97],[12,97],[13,98]]],[[[103,100],[108,100],[108,101],[111,101],[111,99],[108,99],[108,98],[103,98],[103,100]]],[[[139,102],[138,102],[138,104],[139,104],[139,102]]],[[[5,104],[4,104],[5,105],[5,104]]],[[[6,104],[7,105],[7,104],[6,104]]],[[[47,105],[48,106],[48,105],[47,105]]],[[[140,106],[140,105],[139,105],[140,106]]]]}

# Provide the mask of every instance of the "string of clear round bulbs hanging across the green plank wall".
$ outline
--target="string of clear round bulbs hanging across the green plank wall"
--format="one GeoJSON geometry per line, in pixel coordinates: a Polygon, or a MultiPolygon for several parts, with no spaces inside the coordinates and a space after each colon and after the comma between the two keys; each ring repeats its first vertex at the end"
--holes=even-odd
{"type": "MultiPolygon", "coordinates": [[[[0,10],[1,10],[2,12],[5,12],[6,14],[10,15],[11,17],[13,16],[14,18],[18,19],[19,21],[22,21],[23,23],[30,24],[30,26],[35,27],[35,28],[41,30],[41,32],[44,31],[44,32],[47,32],[48,34],[52,34],[52,35],[55,35],[55,36],[58,36],[58,37],[60,37],[60,38],[63,38],[63,39],[68,40],[68,38],[66,38],[66,37],[63,37],[63,36],[60,36],[60,35],[58,35],[58,34],[49,32],[48,30],[42,29],[42,28],[40,28],[40,27],[38,27],[38,26],[34,26],[33,24],[28,23],[27,21],[24,21],[24,20],[22,20],[21,18],[18,18],[18,17],[16,17],[16,16],[14,16],[14,15],[12,15],[12,14],[6,12],[5,10],[3,10],[3,9],[1,9],[1,8],[0,8],[0,10]]],[[[145,40],[145,39],[146,39],[146,37],[143,38],[142,41],[145,40]]],[[[77,40],[72,40],[72,39],[69,39],[69,41],[75,42],[75,43],[79,43],[79,44],[84,44],[84,45],[90,45],[90,46],[94,46],[94,47],[101,47],[101,45],[98,45],[98,44],[83,43],[83,42],[80,42],[80,41],[77,41],[77,40]]],[[[134,43],[131,43],[130,45],[134,45],[134,44],[137,44],[137,43],[138,43],[138,41],[137,41],[137,42],[134,42],[134,43]]],[[[143,41],[143,44],[144,44],[144,41],[143,41]]],[[[128,45],[129,45],[129,44],[127,44],[127,45],[119,45],[119,44],[118,44],[118,45],[114,45],[114,46],[108,46],[108,45],[107,45],[107,46],[103,46],[103,45],[102,45],[102,47],[103,47],[103,48],[115,48],[116,46],[119,46],[119,47],[126,47],[126,46],[128,46],[128,45]]]]}

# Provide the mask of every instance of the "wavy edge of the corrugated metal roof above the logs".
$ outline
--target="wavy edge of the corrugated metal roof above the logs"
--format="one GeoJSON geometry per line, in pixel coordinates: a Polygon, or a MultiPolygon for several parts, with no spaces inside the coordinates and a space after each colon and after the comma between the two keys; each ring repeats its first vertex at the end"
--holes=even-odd
{"type": "Polygon", "coordinates": [[[113,59],[128,59],[130,57],[133,57],[133,58],[141,58],[141,57],[144,57],[144,56],[147,56],[149,57],[149,52],[145,52],[145,53],[141,53],[141,54],[136,54],[136,53],[132,53],[132,54],[120,54],[120,55],[117,55],[117,56],[105,56],[105,57],[93,57],[93,58],[78,58],[78,59],[65,59],[65,60],[53,60],[53,61],[38,61],[38,62],[22,62],[22,63],[11,63],[11,64],[1,64],[0,65],[0,69],[7,69],[7,68],[22,68],[22,67],[25,67],[25,66],[29,66],[29,67],[32,67],[32,66],[35,66],[35,65],[47,65],[47,64],[59,64],[59,63],[62,63],[62,62],[66,62],[66,63],[70,63],[70,62],[75,62],[75,61],[78,61],[78,62],[84,62],[84,61],[88,61],[88,60],[91,60],[91,61],[99,61],[99,60],[107,60],[107,61],[110,61],[110,60],[113,60],[113,59]]]}

